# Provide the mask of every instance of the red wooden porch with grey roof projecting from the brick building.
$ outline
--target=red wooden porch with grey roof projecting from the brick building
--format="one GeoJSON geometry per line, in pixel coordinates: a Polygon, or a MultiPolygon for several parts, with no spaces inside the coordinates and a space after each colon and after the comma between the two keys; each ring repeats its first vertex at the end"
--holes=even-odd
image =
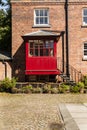
{"type": "Polygon", "coordinates": [[[37,31],[23,36],[26,42],[25,75],[29,77],[27,79],[35,77],[37,80],[37,77],[42,75],[55,78],[60,74],[57,69],[56,48],[59,37],[60,33],[50,31],[37,31]]]}

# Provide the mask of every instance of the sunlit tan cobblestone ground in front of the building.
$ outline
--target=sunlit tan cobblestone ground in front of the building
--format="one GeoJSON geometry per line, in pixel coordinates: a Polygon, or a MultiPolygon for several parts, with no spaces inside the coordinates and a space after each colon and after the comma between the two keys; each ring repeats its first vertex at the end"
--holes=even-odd
{"type": "Polygon", "coordinates": [[[0,94],[0,130],[63,130],[59,102],[86,102],[87,95],[0,94]]]}

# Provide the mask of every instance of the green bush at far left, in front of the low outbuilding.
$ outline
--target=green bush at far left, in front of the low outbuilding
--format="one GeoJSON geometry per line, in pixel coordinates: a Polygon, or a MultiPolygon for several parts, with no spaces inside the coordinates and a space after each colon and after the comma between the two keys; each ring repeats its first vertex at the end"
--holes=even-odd
{"type": "Polygon", "coordinates": [[[12,78],[11,80],[9,78],[5,78],[1,81],[0,84],[0,91],[1,92],[12,92],[12,88],[16,86],[16,79],[12,78]]]}

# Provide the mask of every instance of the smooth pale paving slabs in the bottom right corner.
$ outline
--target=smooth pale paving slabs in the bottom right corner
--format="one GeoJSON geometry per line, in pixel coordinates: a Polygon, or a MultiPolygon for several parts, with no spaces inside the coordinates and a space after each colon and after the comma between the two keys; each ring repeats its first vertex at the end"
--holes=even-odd
{"type": "Polygon", "coordinates": [[[66,108],[76,122],[79,130],[87,130],[86,104],[66,104],[66,108]]]}

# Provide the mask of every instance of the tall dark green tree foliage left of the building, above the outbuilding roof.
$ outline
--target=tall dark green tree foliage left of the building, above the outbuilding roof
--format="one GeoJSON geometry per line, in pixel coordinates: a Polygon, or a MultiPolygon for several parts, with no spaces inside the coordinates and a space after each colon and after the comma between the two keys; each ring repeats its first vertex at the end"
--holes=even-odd
{"type": "Polygon", "coordinates": [[[11,51],[11,8],[10,1],[0,1],[0,50],[11,51]],[[6,7],[6,9],[3,9],[6,7]]]}

